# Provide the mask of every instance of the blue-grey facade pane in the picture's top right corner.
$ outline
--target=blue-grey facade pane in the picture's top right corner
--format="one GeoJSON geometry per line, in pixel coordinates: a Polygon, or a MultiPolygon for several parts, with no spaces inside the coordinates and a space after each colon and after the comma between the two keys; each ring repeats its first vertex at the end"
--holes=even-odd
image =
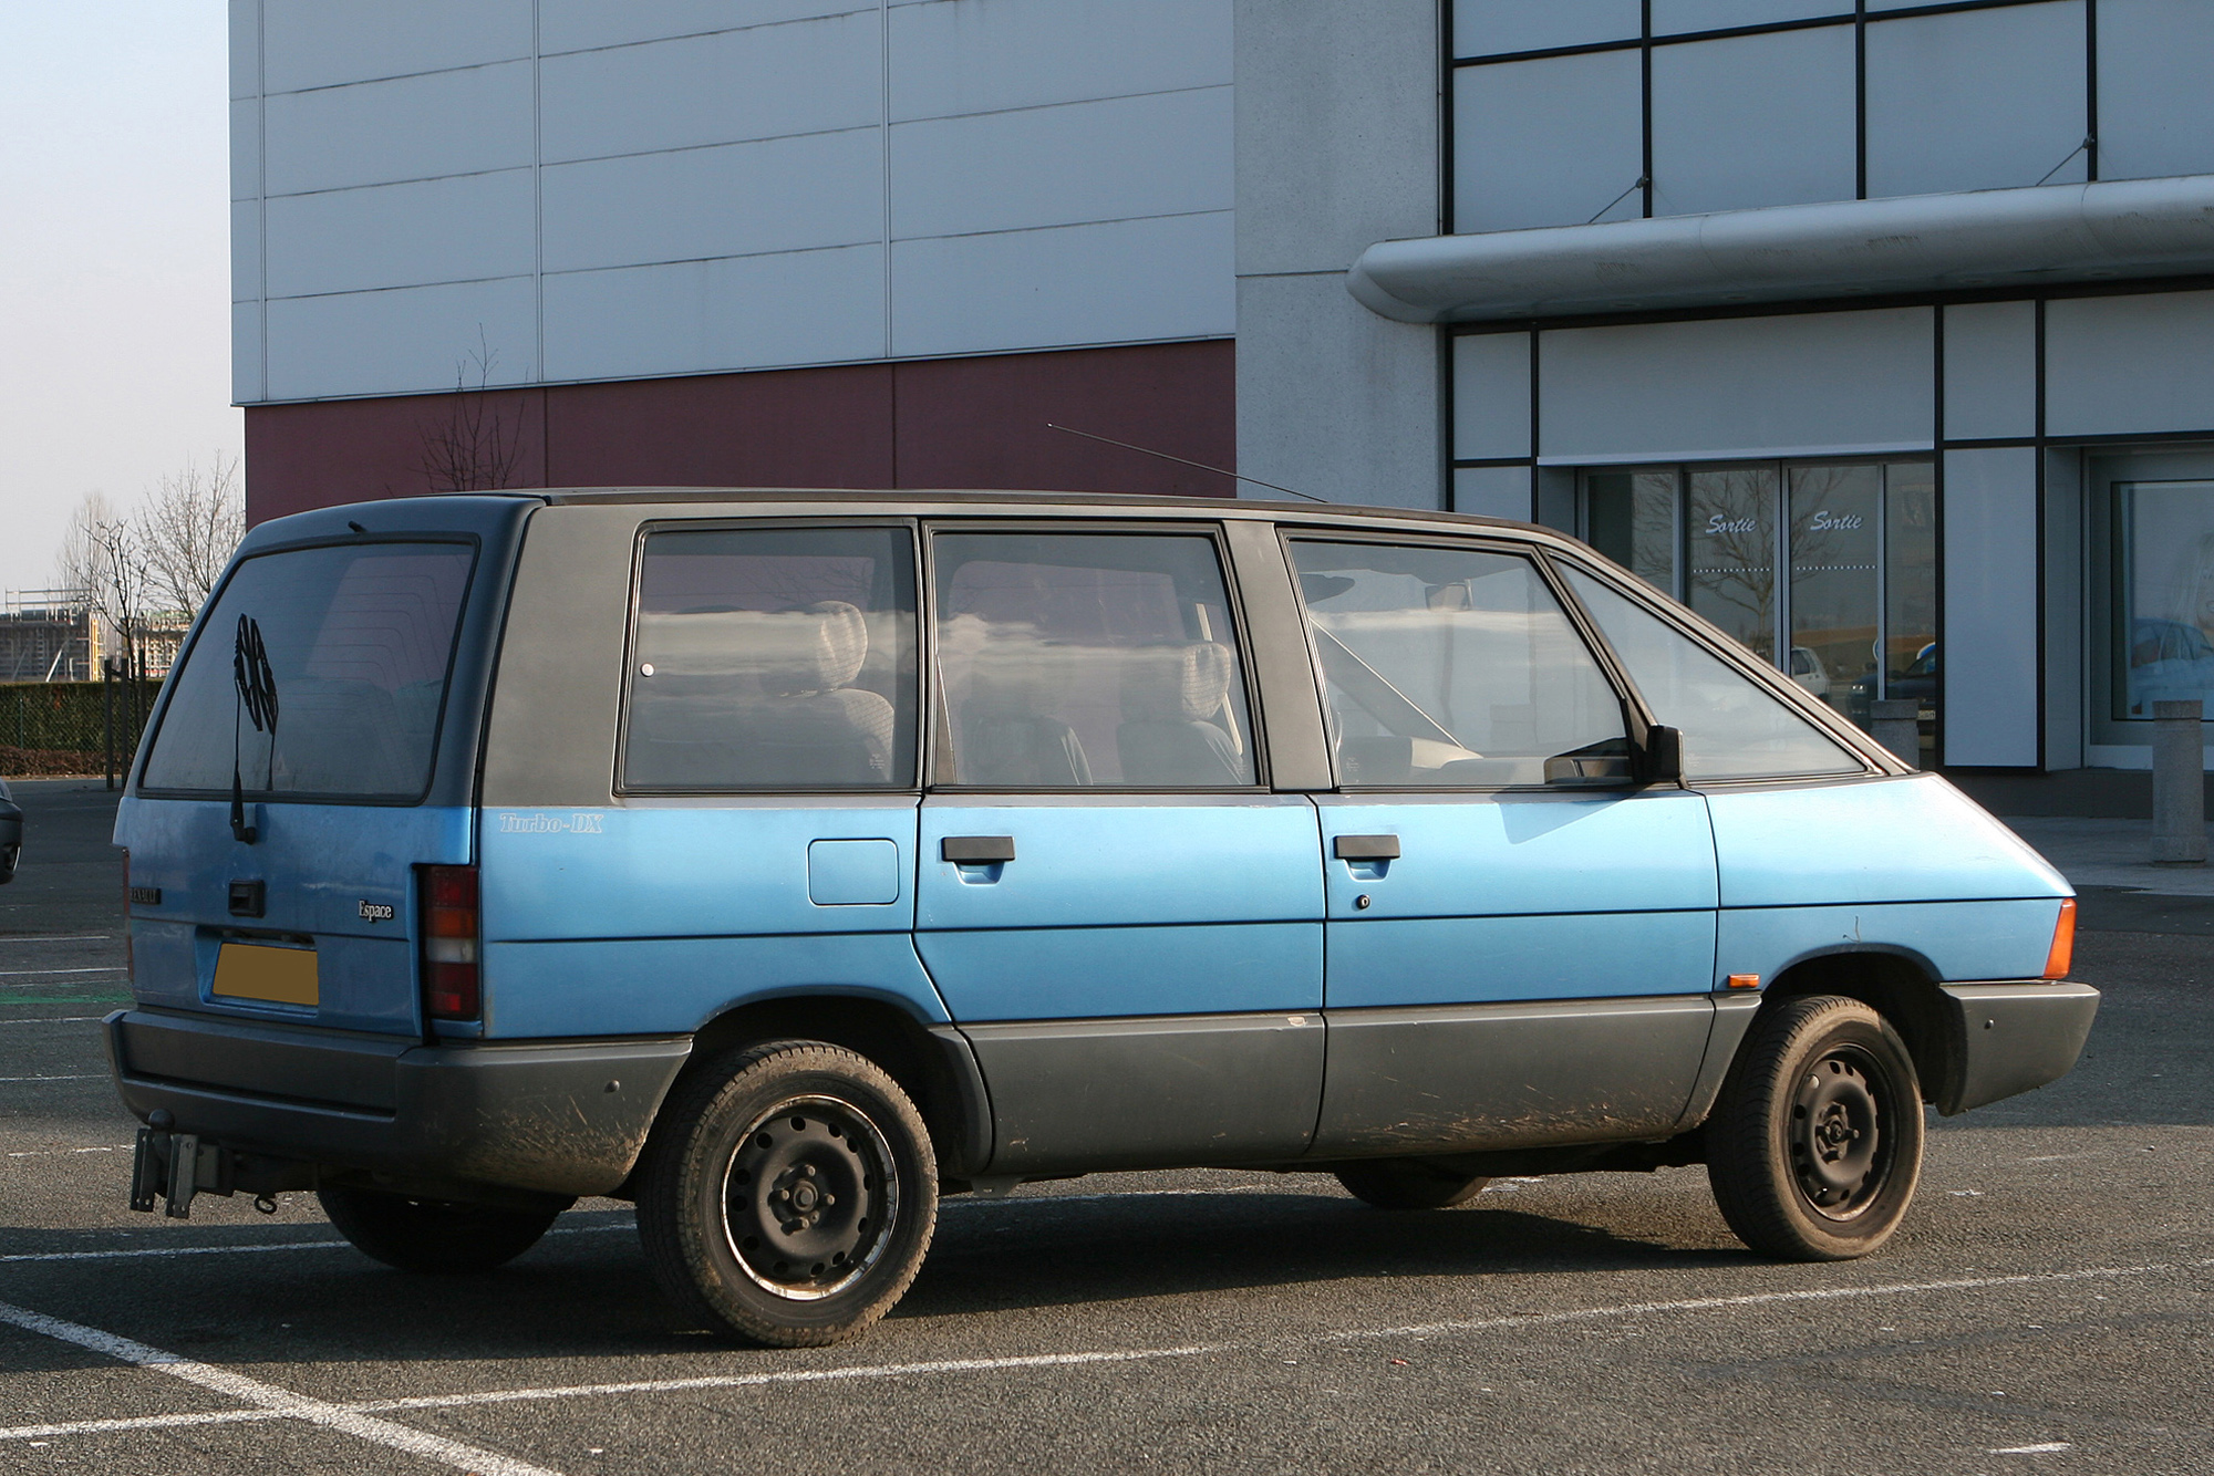
{"type": "Polygon", "coordinates": [[[2214,173],[2214,4],[2099,0],[2099,177],[2214,173]]]}

